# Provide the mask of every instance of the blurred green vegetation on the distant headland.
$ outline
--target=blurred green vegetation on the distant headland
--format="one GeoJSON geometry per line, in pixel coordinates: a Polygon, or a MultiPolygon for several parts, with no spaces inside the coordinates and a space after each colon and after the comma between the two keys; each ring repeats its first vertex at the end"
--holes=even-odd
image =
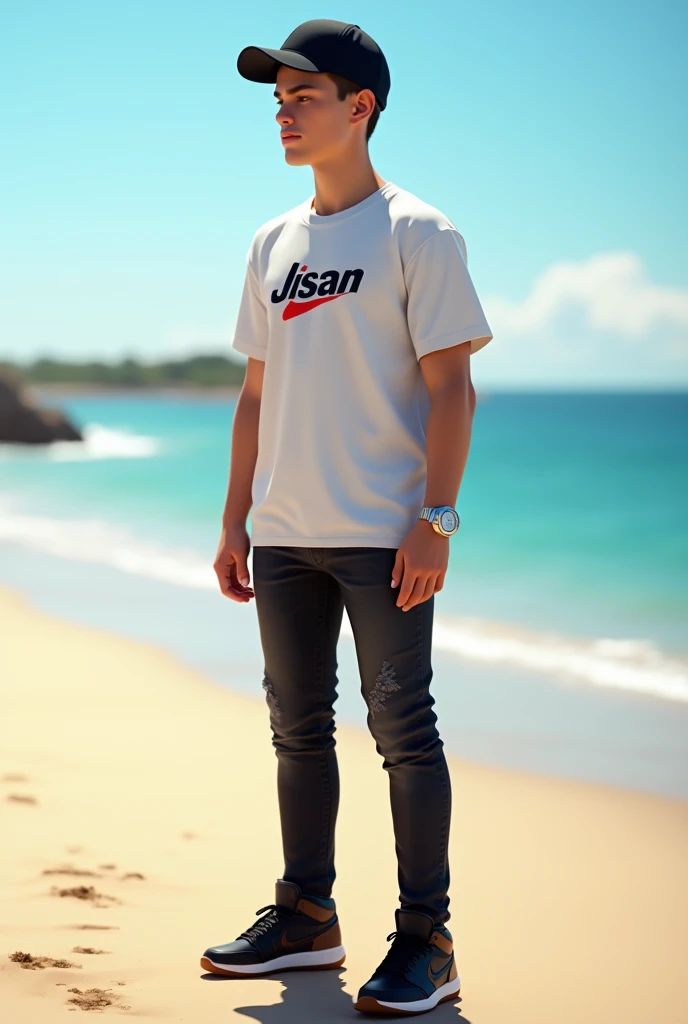
{"type": "Polygon", "coordinates": [[[186,359],[119,362],[39,358],[33,362],[0,360],[0,375],[24,384],[94,385],[117,388],[241,387],[244,366],[225,355],[193,355],[186,359]]]}

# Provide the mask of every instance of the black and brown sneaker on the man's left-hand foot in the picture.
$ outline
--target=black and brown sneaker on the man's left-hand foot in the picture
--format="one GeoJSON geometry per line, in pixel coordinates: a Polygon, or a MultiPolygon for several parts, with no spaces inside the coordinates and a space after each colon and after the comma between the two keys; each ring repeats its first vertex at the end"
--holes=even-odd
{"type": "Polygon", "coordinates": [[[274,903],[233,942],[210,946],[201,967],[212,974],[246,977],[270,971],[341,967],[342,945],[334,899],[306,896],[293,882],[277,879],[274,903]]]}

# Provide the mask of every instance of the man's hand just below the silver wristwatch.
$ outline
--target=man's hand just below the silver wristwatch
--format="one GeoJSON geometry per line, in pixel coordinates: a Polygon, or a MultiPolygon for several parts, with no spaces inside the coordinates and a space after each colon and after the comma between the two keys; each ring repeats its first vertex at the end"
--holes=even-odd
{"type": "Polygon", "coordinates": [[[449,538],[438,534],[427,519],[419,519],[396,552],[392,587],[401,583],[397,607],[408,611],[441,590],[448,561],[449,538]]]}

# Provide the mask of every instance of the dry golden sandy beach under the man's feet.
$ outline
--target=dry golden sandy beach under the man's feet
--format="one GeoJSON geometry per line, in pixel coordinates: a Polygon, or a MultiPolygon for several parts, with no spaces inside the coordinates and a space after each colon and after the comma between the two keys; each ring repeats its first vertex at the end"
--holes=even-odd
{"type": "MultiPolygon", "coordinates": [[[[206,975],[201,953],[253,923],[284,866],[260,680],[255,698],[223,690],[7,590],[0,633],[3,1021],[373,1019],[352,1001],[387,949],[397,888],[372,737],[337,732],[344,966],[206,975]]],[[[432,1019],[685,1024],[688,804],[449,765],[462,990],[432,1019]]]]}

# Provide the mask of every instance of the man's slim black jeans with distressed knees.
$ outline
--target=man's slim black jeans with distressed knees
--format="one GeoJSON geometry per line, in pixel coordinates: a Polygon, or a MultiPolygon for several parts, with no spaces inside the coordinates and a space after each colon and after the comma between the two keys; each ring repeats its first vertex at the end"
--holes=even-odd
{"type": "Polygon", "coordinates": [[[434,595],[408,611],[393,548],[253,548],[263,688],[277,759],[284,878],[331,896],[339,772],[337,640],[346,607],[368,725],[389,773],[399,900],[448,921],[451,788],[432,710],[434,595]]]}

